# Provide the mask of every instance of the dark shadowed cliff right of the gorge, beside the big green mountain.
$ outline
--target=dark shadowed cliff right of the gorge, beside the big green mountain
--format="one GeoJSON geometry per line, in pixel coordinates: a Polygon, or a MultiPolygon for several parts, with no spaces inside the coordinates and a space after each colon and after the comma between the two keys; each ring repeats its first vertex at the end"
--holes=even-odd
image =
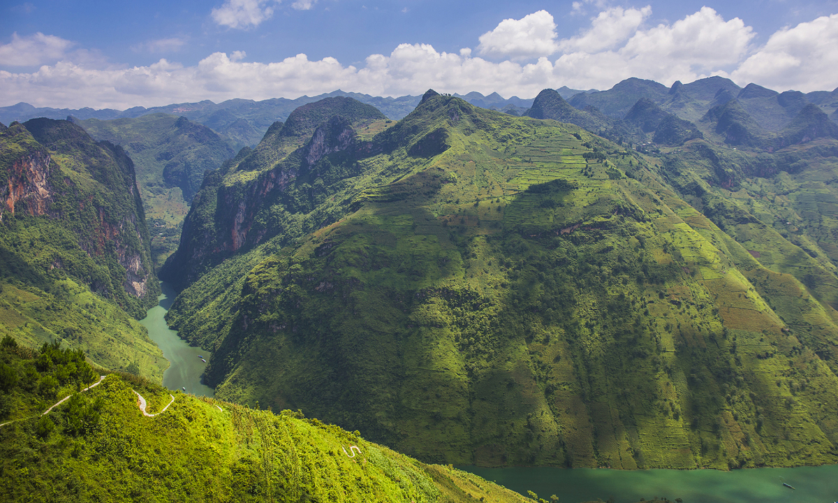
{"type": "MultiPolygon", "coordinates": [[[[300,236],[299,222],[288,215],[308,215],[325,185],[358,174],[358,166],[329,173],[328,158],[368,156],[376,147],[359,141],[355,128],[382,119],[374,107],[341,98],[300,107],[285,124],[272,126],[255,150],[204,177],[162,276],[184,287],[242,249],[273,236],[300,236]]],[[[312,215],[314,228],[338,214],[312,215]]]]}

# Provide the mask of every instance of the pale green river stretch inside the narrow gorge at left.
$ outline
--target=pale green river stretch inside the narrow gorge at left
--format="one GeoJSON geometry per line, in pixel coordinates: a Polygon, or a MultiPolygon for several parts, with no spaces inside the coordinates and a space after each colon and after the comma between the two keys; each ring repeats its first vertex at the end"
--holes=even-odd
{"type": "Polygon", "coordinates": [[[148,337],[163,351],[163,356],[168,360],[169,366],[163,372],[163,386],[170,390],[183,390],[194,395],[212,397],[215,392],[201,381],[206,363],[201,360],[209,360],[209,352],[190,346],[188,342],[178,337],[178,332],[168,328],[166,324],[166,313],[172,307],[177,293],[165,282],[160,283],[163,293],[158,297],[158,305],[148,309],[145,318],[140,324],[148,329],[148,337]]]}

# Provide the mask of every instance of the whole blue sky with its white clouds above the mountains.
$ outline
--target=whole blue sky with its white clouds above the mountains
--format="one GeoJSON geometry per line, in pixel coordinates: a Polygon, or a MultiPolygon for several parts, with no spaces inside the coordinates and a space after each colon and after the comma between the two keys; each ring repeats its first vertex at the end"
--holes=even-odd
{"type": "Polygon", "coordinates": [[[0,1],[0,106],[162,106],[427,89],[838,87],[838,0],[0,1]]]}

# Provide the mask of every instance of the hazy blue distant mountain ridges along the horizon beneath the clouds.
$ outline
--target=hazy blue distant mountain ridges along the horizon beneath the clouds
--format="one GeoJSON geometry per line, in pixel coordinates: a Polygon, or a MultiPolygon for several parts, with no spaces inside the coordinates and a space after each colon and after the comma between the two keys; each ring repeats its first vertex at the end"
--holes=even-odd
{"type": "MultiPolygon", "coordinates": [[[[690,122],[699,122],[712,107],[725,105],[727,101],[735,99],[739,101],[742,109],[753,118],[753,121],[759,127],[771,132],[779,132],[786,127],[803,107],[810,103],[819,106],[833,121],[838,114],[838,90],[814,91],[805,94],[799,91],[781,93],[756,84],[748,84],[742,88],[734,84],[732,80],[718,76],[696,80],[690,84],[682,84],[680,81],[676,81],[669,88],[654,80],[630,78],[619,82],[608,91],[582,91],[562,86],[556,90],[556,93],[562,100],[566,100],[570,106],[577,110],[618,120],[622,120],[641,98],[652,101],[662,110],[690,122]],[[594,111],[594,109],[596,110],[594,111]]],[[[63,119],[68,116],[80,120],[110,120],[122,117],[141,117],[162,112],[187,117],[190,121],[199,122],[212,128],[215,132],[230,138],[235,143],[253,147],[259,143],[262,135],[265,134],[272,123],[284,122],[298,106],[334,96],[351,97],[362,103],[375,106],[386,117],[396,121],[410,113],[421,99],[421,96],[393,98],[333,91],[318,96],[301,96],[293,100],[286,98],[272,98],[263,101],[234,99],[217,104],[213,101],[204,100],[196,103],[173,103],[151,108],[135,106],[124,111],[114,109],[94,110],[86,107],[81,109],[36,108],[27,103],[18,103],[13,106],[0,107],[0,122],[9,124],[13,121],[22,122],[33,117],[63,119]]],[[[519,116],[528,115],[528,110],[535,102],[535,98],[522,99],[518,96],[506,99],[496,92],[489,96],[484,96],[478,92],[469,92],[465,95],[454,94],[453,96],[462,98],[474,106],[519,116]]],[[[530,117],[533,116],[530,115],[530,117]]],[[[565,113],[565,117],[567,117],[567,113],[565,113]]],[[[580,118],[582,122],[588,122],[588,126],[592,125],[590,123],[591,119],[586,116],[577,116],[577,118],[580,118]]],[[[601,117],[593,119],[593,123],[604,132],[605,124],[601,117]]],[[[613,123],[610,126],[613,127],[613,123]]],[[[584,125],[582,127],[589,128],[584,125]]],[[[625,132],[617,130],[608,136],[625,136],[625,132]]]]}

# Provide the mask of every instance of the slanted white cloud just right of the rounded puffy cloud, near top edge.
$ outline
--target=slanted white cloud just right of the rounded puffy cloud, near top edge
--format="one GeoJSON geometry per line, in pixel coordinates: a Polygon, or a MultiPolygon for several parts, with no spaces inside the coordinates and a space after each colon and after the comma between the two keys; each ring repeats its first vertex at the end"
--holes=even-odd
{"type": "Polygon", "coordinates": [[[565,52],[573,50],[596,52],[612,49],[635,34],[640,23],[643,23],[651,13],[652,8],[648,5],[640,9],[609,8],[592,19],[590,29],[572,39],[561,40],[558,47],[565,52]]]}

